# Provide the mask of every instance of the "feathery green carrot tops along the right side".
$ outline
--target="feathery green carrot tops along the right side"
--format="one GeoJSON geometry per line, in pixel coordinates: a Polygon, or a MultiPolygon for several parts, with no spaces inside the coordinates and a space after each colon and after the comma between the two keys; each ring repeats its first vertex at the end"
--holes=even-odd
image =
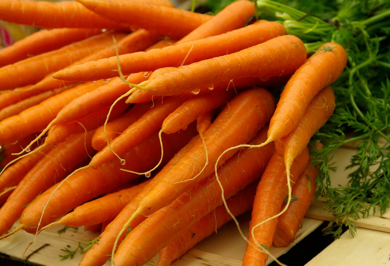
{"type": "MultiPolygon", "coordinates": [[[[218,12],[231,0],[208,0],[218,12]]],[[[259,18],[282,23],[287,34],[300,37],[315,52],[324,42],[346,48],[347,67],[332,84],[336,109],[328,123],[312,138],[323,143],[312,153],[322,162],[317,176],[317,196],[323,196],[335,215],[324,230],[339,237],[342,224],[354,235],[354,219],[383,214],[390,199],[390,0],[258,0],[259,18]],[[346,170],[346,186],[335,187],[331,152],[342,145],[357,148],[346,170]],[[372,212],[371,212],[372,214],[372,212]]]]}

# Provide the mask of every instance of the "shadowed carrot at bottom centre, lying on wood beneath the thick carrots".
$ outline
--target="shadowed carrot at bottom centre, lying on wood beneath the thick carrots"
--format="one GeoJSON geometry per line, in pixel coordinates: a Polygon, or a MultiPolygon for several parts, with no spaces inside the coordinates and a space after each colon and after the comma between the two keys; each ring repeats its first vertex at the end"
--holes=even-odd
{"type": "MultiPolygon", "coordinates": [[[[248,185],[236,195],[226,200],[227,206],[234,216],[239,216],[252,209],[256,192],[256,183],[248,185]]],[[[215,233],[222,225],[232,220],[224,205],[216,207],[213,211],[199,219],[193,226],[183,232],[180,237],[172,241],[159,252],[156,266],[168,266],[179,259],[188,250],[201,240],[215,233]]]]}

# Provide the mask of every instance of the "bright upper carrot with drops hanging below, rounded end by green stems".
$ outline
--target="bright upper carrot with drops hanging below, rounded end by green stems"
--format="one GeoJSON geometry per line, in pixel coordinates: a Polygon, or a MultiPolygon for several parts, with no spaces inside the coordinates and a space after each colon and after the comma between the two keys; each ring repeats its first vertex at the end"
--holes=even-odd
{"type": "Polygon", "coordinates": [[[239,52],[202,60],[186,67],[160,68],[136,87],[155,95],[174,95],[240,77],[268,79],[293,73],[306,57],[305,45],[298,37],[278,36],[239,52]],[[285,56],[287,54],[289,56],[285,56]]]}

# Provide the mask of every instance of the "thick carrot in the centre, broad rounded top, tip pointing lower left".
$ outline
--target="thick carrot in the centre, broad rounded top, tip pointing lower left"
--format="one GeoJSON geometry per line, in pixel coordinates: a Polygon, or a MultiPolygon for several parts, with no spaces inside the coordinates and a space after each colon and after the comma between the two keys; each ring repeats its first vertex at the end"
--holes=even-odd
{"type": "MultiPolygon", "coordinates": [[[[171,170],[161,178],[148,195],[138,202],[136,217],[147,215],[170,204],[200,180],[214,170],[214,164],[220,154],[231,146],[247,143],[256,132],[268,123],[274,111],[273,96],[265,89],[255,88],[242,91],[232,98],[217,116],[209,129],[204,132],[204,141],[200,139],[171,170]],[[239,134],[235,129],[240,128],[239,134]],[[205,147],[207,148],[206,164],[205,147]]],[[[222,164],[235,151],[230,150],[220,159],[222,164]]]]}

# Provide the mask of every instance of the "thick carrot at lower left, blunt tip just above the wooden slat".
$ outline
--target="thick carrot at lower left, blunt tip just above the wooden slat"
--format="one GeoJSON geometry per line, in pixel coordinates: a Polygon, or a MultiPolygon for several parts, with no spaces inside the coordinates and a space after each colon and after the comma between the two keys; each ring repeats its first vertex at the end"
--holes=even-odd
{"type": "MultiPolygon", "coordinates": [[[[193,136],[190,131],[192,130],[186,130],[173,137],[164,136],[164,145],[168,147],[164,154],[164,161],[188,142],[188,139],[193,136]]],[[[161,155],[158,152],[160,149],[157,148],[159,146],[160,142],[155,134],[126,154],[126,157],[132,160],[124,166],[118,159],[113,159],[98,168],[77,171],[60,184],[47,189],[28,205],[21,215],[21,225],[16,230],[23,229],[35,233],[82,203],[137,179],[137,174],[122,171],[121,167],[137,171],[150,169],[160,159],[161,155]]]]}

